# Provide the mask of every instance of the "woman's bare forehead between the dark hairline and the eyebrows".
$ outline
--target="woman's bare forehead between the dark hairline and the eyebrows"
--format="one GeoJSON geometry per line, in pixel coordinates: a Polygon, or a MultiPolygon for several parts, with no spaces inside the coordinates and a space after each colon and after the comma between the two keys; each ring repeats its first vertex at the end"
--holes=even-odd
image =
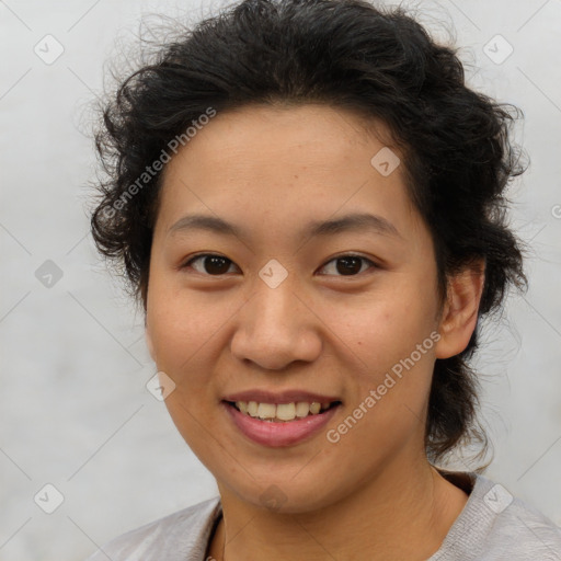
{"type": "Polygon", "coordinates": [[[371,210],[399,229],[412,207],[389,139],[382,124],[327,105],[218,113],[168,163],[159,221],[169,228],[188,209],[288,227],[371,210]],[[394,158],[389,174],[380,153],[394,158]]]}

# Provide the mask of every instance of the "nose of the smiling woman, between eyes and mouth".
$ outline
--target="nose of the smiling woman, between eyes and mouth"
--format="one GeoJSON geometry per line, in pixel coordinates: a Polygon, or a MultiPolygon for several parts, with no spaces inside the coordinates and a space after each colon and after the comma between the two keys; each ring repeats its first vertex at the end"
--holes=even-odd
{"type": "Polygon", "coordinates": [[[254,291],[237,314],[230,344],[236,358],[282,370],[295,360],[313,362],[321,354],[321,320],[289,278],[275,288],[256,279],[254,291]]]}

